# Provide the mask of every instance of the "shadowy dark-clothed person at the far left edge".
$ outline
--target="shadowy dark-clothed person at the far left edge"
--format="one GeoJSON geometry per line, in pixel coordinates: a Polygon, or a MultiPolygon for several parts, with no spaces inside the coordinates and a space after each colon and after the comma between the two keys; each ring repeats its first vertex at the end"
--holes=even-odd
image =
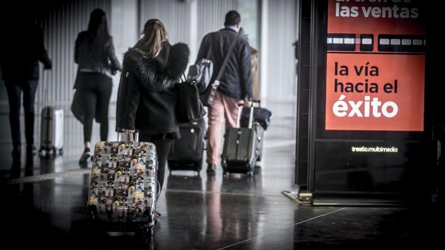
{"type": "Polygon", "coordinates": [[[34,145],[34,102],[39,79],[38,61],[45,69],[51,69],[52,62],[48,58],[43,43],[43,30],[35,23],[32,15],[24,14],[11,26],[5,24],[2,53],[2,78],[5,81],[9,101],[9,121],[13,142],[12,155],[20,157],[20,106],[25,111],[26,151],[35,154],[34,145]]]}

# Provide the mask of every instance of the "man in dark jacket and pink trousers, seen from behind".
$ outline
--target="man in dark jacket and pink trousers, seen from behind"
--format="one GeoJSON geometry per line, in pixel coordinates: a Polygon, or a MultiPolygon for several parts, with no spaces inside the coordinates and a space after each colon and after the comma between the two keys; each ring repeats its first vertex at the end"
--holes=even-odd
{"type": "Polygon", "coordinates": [[[229,52],[233,40],[236,40],[233,53],[222,73],[213,104],[208,112],[207,173],[214,174],[219,163],[221,148],[221,126],[226,119],[226,129],[236,126],[238,104],[245,107],[252,105],[252,70],[250,65],[250,46],[246,39],[239,39],[241,16],[236,11],[226,14],[225,28],[207,34],[201,42],[197,62],[207,56],[213,62],[212,82],[221,69],[222,62],[229,52]]]}

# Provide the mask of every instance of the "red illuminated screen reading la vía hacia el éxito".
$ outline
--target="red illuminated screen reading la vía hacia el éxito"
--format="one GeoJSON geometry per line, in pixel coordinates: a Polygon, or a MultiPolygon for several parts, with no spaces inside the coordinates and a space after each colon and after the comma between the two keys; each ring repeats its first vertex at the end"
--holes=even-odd
{"type": "Polygon", "coordinates": [[[423,131],[426,38],[413,2],[329,1],[326,130],[423,131]]]}

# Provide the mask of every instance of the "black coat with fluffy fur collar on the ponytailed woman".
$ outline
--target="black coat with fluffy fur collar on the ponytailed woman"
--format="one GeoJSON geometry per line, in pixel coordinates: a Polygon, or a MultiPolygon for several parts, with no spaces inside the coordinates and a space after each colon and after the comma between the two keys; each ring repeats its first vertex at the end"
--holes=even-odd
{"type": "Polygon", "coordinates": [[[125,53],[116,109],[116,129],[141,134],[178,133],[176,84],[189,62],[187,44],[163,42],[162,50],[147,59],[134,48],[125,53]]]}

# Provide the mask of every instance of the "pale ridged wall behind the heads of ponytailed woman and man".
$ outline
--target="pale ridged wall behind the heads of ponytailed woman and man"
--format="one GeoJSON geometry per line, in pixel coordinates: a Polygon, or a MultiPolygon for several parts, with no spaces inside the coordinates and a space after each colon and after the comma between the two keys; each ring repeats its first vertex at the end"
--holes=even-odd
{"type": "Polygon", "coordinates": [[[152,18],[165,26],[170,43],[179,41],[190,46],[190,64],[198,54],[202,38],[209,32],[224,28],[226,13],[237,10],[249,41],[258,47],[257,0],[141,0],[140,24],[152,18]]]}

